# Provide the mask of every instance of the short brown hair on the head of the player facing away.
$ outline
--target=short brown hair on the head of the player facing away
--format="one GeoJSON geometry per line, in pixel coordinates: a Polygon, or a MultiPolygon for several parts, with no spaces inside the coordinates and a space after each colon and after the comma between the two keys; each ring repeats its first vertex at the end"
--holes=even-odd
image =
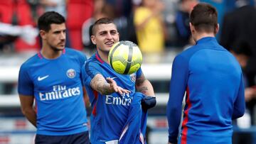
{"type": "Polygon", "coordinates": [[[218,12],[210,4],[200,3],[193,7],[190,14],[190,22],[196,31],[216,33],[218,26],[218,12]]]}

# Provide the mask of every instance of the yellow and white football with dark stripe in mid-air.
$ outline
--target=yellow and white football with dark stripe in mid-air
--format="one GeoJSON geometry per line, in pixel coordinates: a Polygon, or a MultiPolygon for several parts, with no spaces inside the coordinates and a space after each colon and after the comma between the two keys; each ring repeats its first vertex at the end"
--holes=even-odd
{"type": "Polygon", "coordinates": [[[142,52],[131,41],[119,41],[110,49],[108,60],[112,69],[119,74],[132,74],[142,65],[142,52]]]}

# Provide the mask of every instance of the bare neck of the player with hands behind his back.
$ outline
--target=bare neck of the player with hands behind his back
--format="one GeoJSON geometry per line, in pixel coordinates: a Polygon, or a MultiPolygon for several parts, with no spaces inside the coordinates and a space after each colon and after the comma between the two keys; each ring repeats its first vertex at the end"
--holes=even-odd
{"type": "Polygon", "coordinates": [[[43,47],[41,50],[41,54],[43,55],[43,57],[46,57],[47,59],[55,59],[57,57],[60,57],[62,52],[62,50],[53,50],[53,48],[49,47],[43,47]]]}

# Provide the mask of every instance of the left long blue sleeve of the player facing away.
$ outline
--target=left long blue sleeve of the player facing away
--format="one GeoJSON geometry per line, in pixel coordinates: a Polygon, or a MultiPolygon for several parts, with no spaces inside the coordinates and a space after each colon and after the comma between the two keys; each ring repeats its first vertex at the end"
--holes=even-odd
{"type": "Polygon", "coordinates": [[[182,100],[188,81],[188,61],[178,55],[173,63],[166,116],[169,123],[169,142],[176,143],[181,122],[182,100]]]}

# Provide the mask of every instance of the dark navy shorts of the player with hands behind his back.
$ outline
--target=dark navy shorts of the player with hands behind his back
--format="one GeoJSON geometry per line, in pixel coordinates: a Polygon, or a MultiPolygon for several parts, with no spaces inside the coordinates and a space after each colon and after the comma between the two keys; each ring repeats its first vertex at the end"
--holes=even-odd
{"type": "Polygon", "coordinates": [[[36,135],[36,144],[90,144],[88,131],[74,135],[36,135]]]}

